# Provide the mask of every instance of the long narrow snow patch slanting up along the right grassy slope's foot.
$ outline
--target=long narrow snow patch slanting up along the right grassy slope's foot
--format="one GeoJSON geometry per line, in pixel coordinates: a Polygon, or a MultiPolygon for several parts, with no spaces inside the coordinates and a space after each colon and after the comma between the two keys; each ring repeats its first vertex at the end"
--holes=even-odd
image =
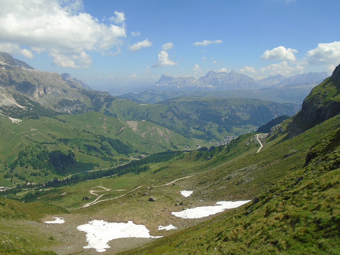
{"type": "Polygon", "coordinates": [[[179,212],[171,212],[172,215],[184,218],[184,219],[199,219],[203,217],[207,217],[209,215],[217,214],[218,212],[222,212],[225,209],[231,209],[239,207],[243,204],[250,202],[251,200],[246,201],[220,201],[215,205],[211,206],[200,206],[196,208],[190,208],[179,212]]]}

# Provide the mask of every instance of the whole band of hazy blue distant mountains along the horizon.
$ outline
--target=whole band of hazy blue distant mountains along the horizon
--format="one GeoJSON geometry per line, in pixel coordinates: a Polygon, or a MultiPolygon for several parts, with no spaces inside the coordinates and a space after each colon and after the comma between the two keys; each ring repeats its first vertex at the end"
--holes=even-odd
{"type": "MultiPolygon", "coordinates": [[[[154,84],[129,88],[138,92],[129,92],[121,95],[121,97],[141,102],[156,103],[184,95],[215,95],[301,104],[309,91],[327,76],[326,72],[309,72],[297,74],[293,77],[284,77],[282,75],[269,76],[256,81],[245,74],[235,71],[209,71],[198,79],[193,77],[174,78],[163,74],[154,84]],[[143,90],[145,88],[148,88],[148,90],[143,90]]],[[[114,94],[113,89],[109,89],[109,92],[114,94]]]]}

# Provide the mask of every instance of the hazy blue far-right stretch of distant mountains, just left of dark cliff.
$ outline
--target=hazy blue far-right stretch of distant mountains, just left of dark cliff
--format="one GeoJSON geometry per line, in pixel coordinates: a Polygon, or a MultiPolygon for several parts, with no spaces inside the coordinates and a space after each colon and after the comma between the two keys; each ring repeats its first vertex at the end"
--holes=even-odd
{"type": "Polygon", "coordinates": [[[281,85],[296,85],[296,84],[319,84],[325,78],[328,77],[327,72],[308,72],[297,74],[292,77],[285,77],[281,74],[278,75],[270,75],[267,78],[264,78],[258,82],[259,88],[270,88],[281,85]]]}

